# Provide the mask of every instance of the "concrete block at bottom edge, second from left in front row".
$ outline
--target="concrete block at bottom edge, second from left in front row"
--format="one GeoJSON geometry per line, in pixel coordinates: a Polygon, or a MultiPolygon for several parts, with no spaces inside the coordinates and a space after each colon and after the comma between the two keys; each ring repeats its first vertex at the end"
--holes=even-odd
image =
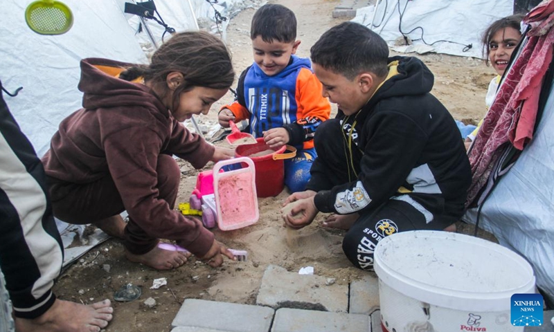
{"type": "Polygon", "coordinates": [[[369,316],[281,308],[275,314],[271,332],[369,331],[369,316]]]}

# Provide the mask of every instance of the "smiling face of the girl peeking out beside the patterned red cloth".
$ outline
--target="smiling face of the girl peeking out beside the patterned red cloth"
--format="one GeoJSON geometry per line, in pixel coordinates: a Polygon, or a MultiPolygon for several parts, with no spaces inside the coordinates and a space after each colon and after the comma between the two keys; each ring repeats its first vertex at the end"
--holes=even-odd
{"type": "Polygon", "coordinates": [[[489,61],[498,75],[503,75],[504,71],[506,71],[510,55],[512,55],[520,38],[521,33],[519,33],[519,30],[508,27],[498,30],[490,39],[488,44],[489,61]]]}

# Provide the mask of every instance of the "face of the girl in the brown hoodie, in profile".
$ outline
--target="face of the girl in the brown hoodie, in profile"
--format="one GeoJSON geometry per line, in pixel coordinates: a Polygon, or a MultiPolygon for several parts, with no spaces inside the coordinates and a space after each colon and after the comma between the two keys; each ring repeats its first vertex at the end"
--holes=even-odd
{"type": "MultiPolygon", "coordinates": [[[[172,111],[173,117],[179,122],[190,119],[193,114],[206,115],[212,104],[220,100],[227,89],[211,89],[203,86],[195,86],[192,90],[181,93],[179,96],[179,107],[172,111]]],[[[171,99],[170,99],[171,100],[171,99]]]]}

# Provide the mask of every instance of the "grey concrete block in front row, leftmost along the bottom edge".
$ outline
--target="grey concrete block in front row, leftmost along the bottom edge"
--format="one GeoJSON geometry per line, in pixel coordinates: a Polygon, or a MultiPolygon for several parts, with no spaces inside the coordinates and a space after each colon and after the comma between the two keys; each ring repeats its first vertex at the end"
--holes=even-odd
{"type": "Polygon", "coordinates": [[[199,332],[269,332],[274,314],[265,306],[186,299],[172,326],[206,329],[199,332]]]}

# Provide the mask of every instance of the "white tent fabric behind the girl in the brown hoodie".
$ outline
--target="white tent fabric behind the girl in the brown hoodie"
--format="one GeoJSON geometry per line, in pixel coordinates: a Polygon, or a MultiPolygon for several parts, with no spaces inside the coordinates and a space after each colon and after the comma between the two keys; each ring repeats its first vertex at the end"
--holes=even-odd
{"type": "MultiPolygon", "coordinates": [[[[166,24],[183,31],[196,29],[195,17],[214,16],[213,8],[205,0],[190,1],[195,15],[187,0],[155,3],[166,24]]],[[[57,36],[37,35],[26,26],[24,12],[30,2],[3,1],[7,15],[3,15],[0,24],[0,80],[8,91],[24,87],[17,97],[6,95],[6,103],[37,154],[42,156],[58,124],[80,107],[82,93],[77,89],[80,59],[107,57],[147,63],[143,50],[153,48],[145,46],[150,44],[150,38],[144,31],[136,34],[139,18],[125,14],[126,0],[62,0],[71,8],[74,24],[68,33],[57,36]]],[[[228,15],[254,2],[225,0],[214,6],[222,15],[228,15]]],[[[161,45],[163,28],[152,20],[147,20],[147,24],[161,45]]],[[[166,34],[165,38],[169,37],[166,34]]]]}

